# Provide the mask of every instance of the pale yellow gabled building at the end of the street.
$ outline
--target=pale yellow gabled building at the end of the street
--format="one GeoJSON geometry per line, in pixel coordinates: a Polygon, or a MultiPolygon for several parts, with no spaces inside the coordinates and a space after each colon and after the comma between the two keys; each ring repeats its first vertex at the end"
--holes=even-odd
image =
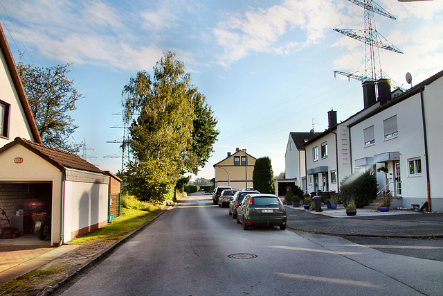
{"type": "Polygon", "coordinates": [[[238,150],[237,148],[237,151],[232,155],[228,152],[225,159],[214,164],[214,186],[231,186],[238,189],[252,187],[255,160],[255,157],[246,153],[246,149],[238,150]]]}

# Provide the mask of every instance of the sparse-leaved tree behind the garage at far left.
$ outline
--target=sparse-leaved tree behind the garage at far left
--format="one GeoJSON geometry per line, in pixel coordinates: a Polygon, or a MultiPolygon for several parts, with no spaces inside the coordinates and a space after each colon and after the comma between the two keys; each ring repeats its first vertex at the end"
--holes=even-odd
{"type": "Polygon", "coordinates": [[[78,126],[69,112],[83,96],[66,77],[70,65],[39,68],[19,62],[17,69],[44,145],[76,153],[80,145],[69,143],[69,137],[78,126]]]}

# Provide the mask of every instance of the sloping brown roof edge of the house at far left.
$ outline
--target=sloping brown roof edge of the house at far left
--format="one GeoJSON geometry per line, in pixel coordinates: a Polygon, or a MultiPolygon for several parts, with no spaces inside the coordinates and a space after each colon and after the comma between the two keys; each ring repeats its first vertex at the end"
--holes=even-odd
{"type": "MultiPolygon", "coordinates": [[[[12,58],[12,53],[10,51],[8,42],[6,41],[6,36],[3,33],[3,28],[0,24],[0,50],[3,54],[3,57],[6,60],[6,66],[8,67],[8,71],[10,73],[10,76],[12,78],[12,82],[15,87],[15,91],[17,92],[17,95],[19,96],[19,102],[21,103],[21,107],[24,110],[26,121],[28,123],[28,126],[30,128],[30,132],[33,135],[34,141],[36,143],[42,144],[42,138],[40,137],[39,131],[37,129],[37,125],[35,124],[33,112],[30,110],[30,106],[28,103],[28,98],[26,98],[26,94],[23,88],[23,85],[21,84],[21,80],[19,77],[19,72],[17,71],[17,67],[15,66],[14,58],[12,58]]],[[[13,137],[13,136],[12,136],[13,137]]]]}

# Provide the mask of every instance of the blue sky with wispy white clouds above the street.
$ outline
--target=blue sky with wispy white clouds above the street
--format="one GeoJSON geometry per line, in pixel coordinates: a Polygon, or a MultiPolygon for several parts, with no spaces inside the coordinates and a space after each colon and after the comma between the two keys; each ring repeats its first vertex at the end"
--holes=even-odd
{"type": "MultiPolygon", "coordinates": [[[[72,63],[84,96],[71,112],[80,155],[103,171],[121,168],[122,90],[164,52],[176,53],[206,96],[220,134],[196,177],[236,148],[270,157],[284,171],[289,132],[323,132],[327,112],[344,121],[363,109],[361,82],[334,71],[364,71],[364,44],[333,31],[363,29],[363,8],[346,0],[0,0],[15,62],[72,63]],[[113,157],[109,157],[113,156],[113,157]],[[115,158],[114,158],[115,157],[115,158]]],[[[405,89],[443,69],[443,0],[377,3],[377,31],[404,52],[380,50],[381,69],[405,89]]]]}

